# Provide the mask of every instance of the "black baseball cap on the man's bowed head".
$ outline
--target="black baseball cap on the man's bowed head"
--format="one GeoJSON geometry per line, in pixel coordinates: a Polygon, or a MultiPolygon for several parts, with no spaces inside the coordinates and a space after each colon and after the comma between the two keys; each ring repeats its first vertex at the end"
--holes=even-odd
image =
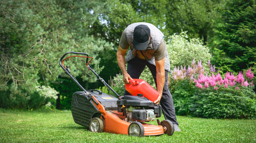
{"type": "Polygon", "coordinates": [[[133,31],[133,47],[136,50],[146,50],[150,37],[150,29],[147,25],[140,24],[133,31]]]}

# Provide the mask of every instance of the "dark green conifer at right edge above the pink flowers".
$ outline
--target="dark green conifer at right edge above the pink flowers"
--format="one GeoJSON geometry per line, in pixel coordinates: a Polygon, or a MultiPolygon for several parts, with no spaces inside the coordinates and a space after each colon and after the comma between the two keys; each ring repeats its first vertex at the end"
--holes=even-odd
{"type": "Polygon", "coordinates": [[[219,8],[213,38],[214,61],[222,71],[238,72],[252,67],[256,73],[256,2],[230,0],[219,8]]]}

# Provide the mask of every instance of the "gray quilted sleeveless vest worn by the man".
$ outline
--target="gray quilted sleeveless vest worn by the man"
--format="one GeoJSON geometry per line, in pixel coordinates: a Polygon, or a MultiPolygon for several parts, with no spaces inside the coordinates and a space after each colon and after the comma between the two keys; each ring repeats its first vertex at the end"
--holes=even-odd
{"type": "MultiPolygon", "coordinates": [[[[149,45],[147,47],[146,50],[142,51],[142,53],[144,54],[145,59],[152,65],[156,66],[155,63],[155,57],[154,57],[154,53],[156,52],[156,50],[159,48],[161,41],[163,40],[163,33],[153,24],[149,24],[149,23],[144,23],[144,22],[139,22],[139,23],[134,23],[134,24],[130,24],[126,29],[125,29],[125,36],[127,38],[127,42],[130,45],[130,50],[128,51],[126,58],[125,58],[125,62],[128,62],[129,60],[133,59],[135,57],[136,54],[136,49],[133,48],[133,31],[134,28],[137,25],[140,24],[144,24],[147,25],[150,29],[150,41],[149,41],[149,45]]],[[[170,72],[170,60],[169,60],[169,56],[167,53],[167,48],[165,45],[165,64],[164,64],[164,69],[166,71],[170,72]]]]}

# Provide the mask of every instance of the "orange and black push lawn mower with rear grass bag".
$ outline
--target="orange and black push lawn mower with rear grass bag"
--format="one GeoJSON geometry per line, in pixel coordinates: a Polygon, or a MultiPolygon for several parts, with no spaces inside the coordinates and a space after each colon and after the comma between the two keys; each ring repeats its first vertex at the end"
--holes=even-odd
{"type": "MultiPolygon", "coordinates": [[[[107,132],[132,136],[146,135],[173,135],[174,127],[171,121],[157,119],[158,125],[148,124],[161,117],[161,106],[154,104],[143,93],[136,95],[119,96],[91,67],[93,57],[86,53],[67,52],[59,60],[60,67],[82,89],[72,95],[71,112],[75,123],[87,127],[92,132],[107,132]],[[69,56],[67,54],[80,56],[69,56]],[[88,71],[92,71],[110,91],[112,95],[102,93],[96,89],[85,90],[74,75],[71,75],[69,66],[64,66],[63,61],[71,57],[86,58],[88,71]],[[88,61],[90,59],[90,61],[88,61]]],[[[134,79],[135,80],[135,79],[134,79]]]]}

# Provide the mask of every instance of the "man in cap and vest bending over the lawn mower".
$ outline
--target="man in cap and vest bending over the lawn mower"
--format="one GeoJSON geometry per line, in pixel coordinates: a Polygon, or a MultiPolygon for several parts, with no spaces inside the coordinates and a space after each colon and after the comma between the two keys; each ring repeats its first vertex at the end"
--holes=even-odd
{"type": "MultiPolygon", "coordinates": [[[[167,83],[170,61],[163,37],[163,33],[153,24],[130,24],[122,33],[117,50],[117,63],[123,74],[123,82],[126,84],[130,84],[129,79],[139,79],[145,66],[150,69],[159,93],[154,103],[161,104],[163,115],[173,123],[174,131],[181,131],[167,83]],[[125,58],[129,47],[130,50],[125,58]],[[125,62],[127,62],[127,71],[125,62]]],[[[131,94],[125,91],[124,95],[131,94]]]]}

